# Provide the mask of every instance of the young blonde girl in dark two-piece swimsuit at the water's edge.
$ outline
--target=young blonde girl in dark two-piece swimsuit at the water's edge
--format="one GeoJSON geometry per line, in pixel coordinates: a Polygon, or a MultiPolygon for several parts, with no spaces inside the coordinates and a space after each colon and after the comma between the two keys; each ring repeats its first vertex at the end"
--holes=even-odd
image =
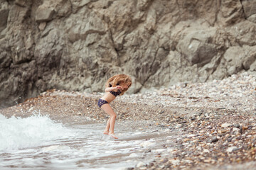
{"type": "Polygon", "coordinates": [[[105,95],[98,101],[98,106],[103,109],[107,114],[110,115],[109,120],[107,120],[107,125],[104,131],[105,135],[110,135],[114,139],[118,139],[114,135],[114,123],[117,118],[117,114],[114,113],[110,106],[110,102],[114,100],[117,96],[122,96],[125,91],[129,89],[132,85],[132,79],[126,74],[117,74],[107,80],[105,95]]]}

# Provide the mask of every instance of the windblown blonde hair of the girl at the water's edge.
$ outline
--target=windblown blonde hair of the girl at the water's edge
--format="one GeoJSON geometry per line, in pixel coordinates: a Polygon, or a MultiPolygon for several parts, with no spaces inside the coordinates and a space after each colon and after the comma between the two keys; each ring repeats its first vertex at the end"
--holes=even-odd
{"type": "Polygon", "coordinates": [[[117,74],[117,75],[114,75],[113,77],[110,77],[110,79],[107,80],[106,87],[110,87],[110,86],[115,87],[121,83],[124,83],[124,84],[130,83],[128,88],[123,90],[122,93],[120,94],[120,96],[122,96],[125,93],[125,91],[127,91],[129,87],[132,86],[132,79],[127,74],[117,74]]]}

